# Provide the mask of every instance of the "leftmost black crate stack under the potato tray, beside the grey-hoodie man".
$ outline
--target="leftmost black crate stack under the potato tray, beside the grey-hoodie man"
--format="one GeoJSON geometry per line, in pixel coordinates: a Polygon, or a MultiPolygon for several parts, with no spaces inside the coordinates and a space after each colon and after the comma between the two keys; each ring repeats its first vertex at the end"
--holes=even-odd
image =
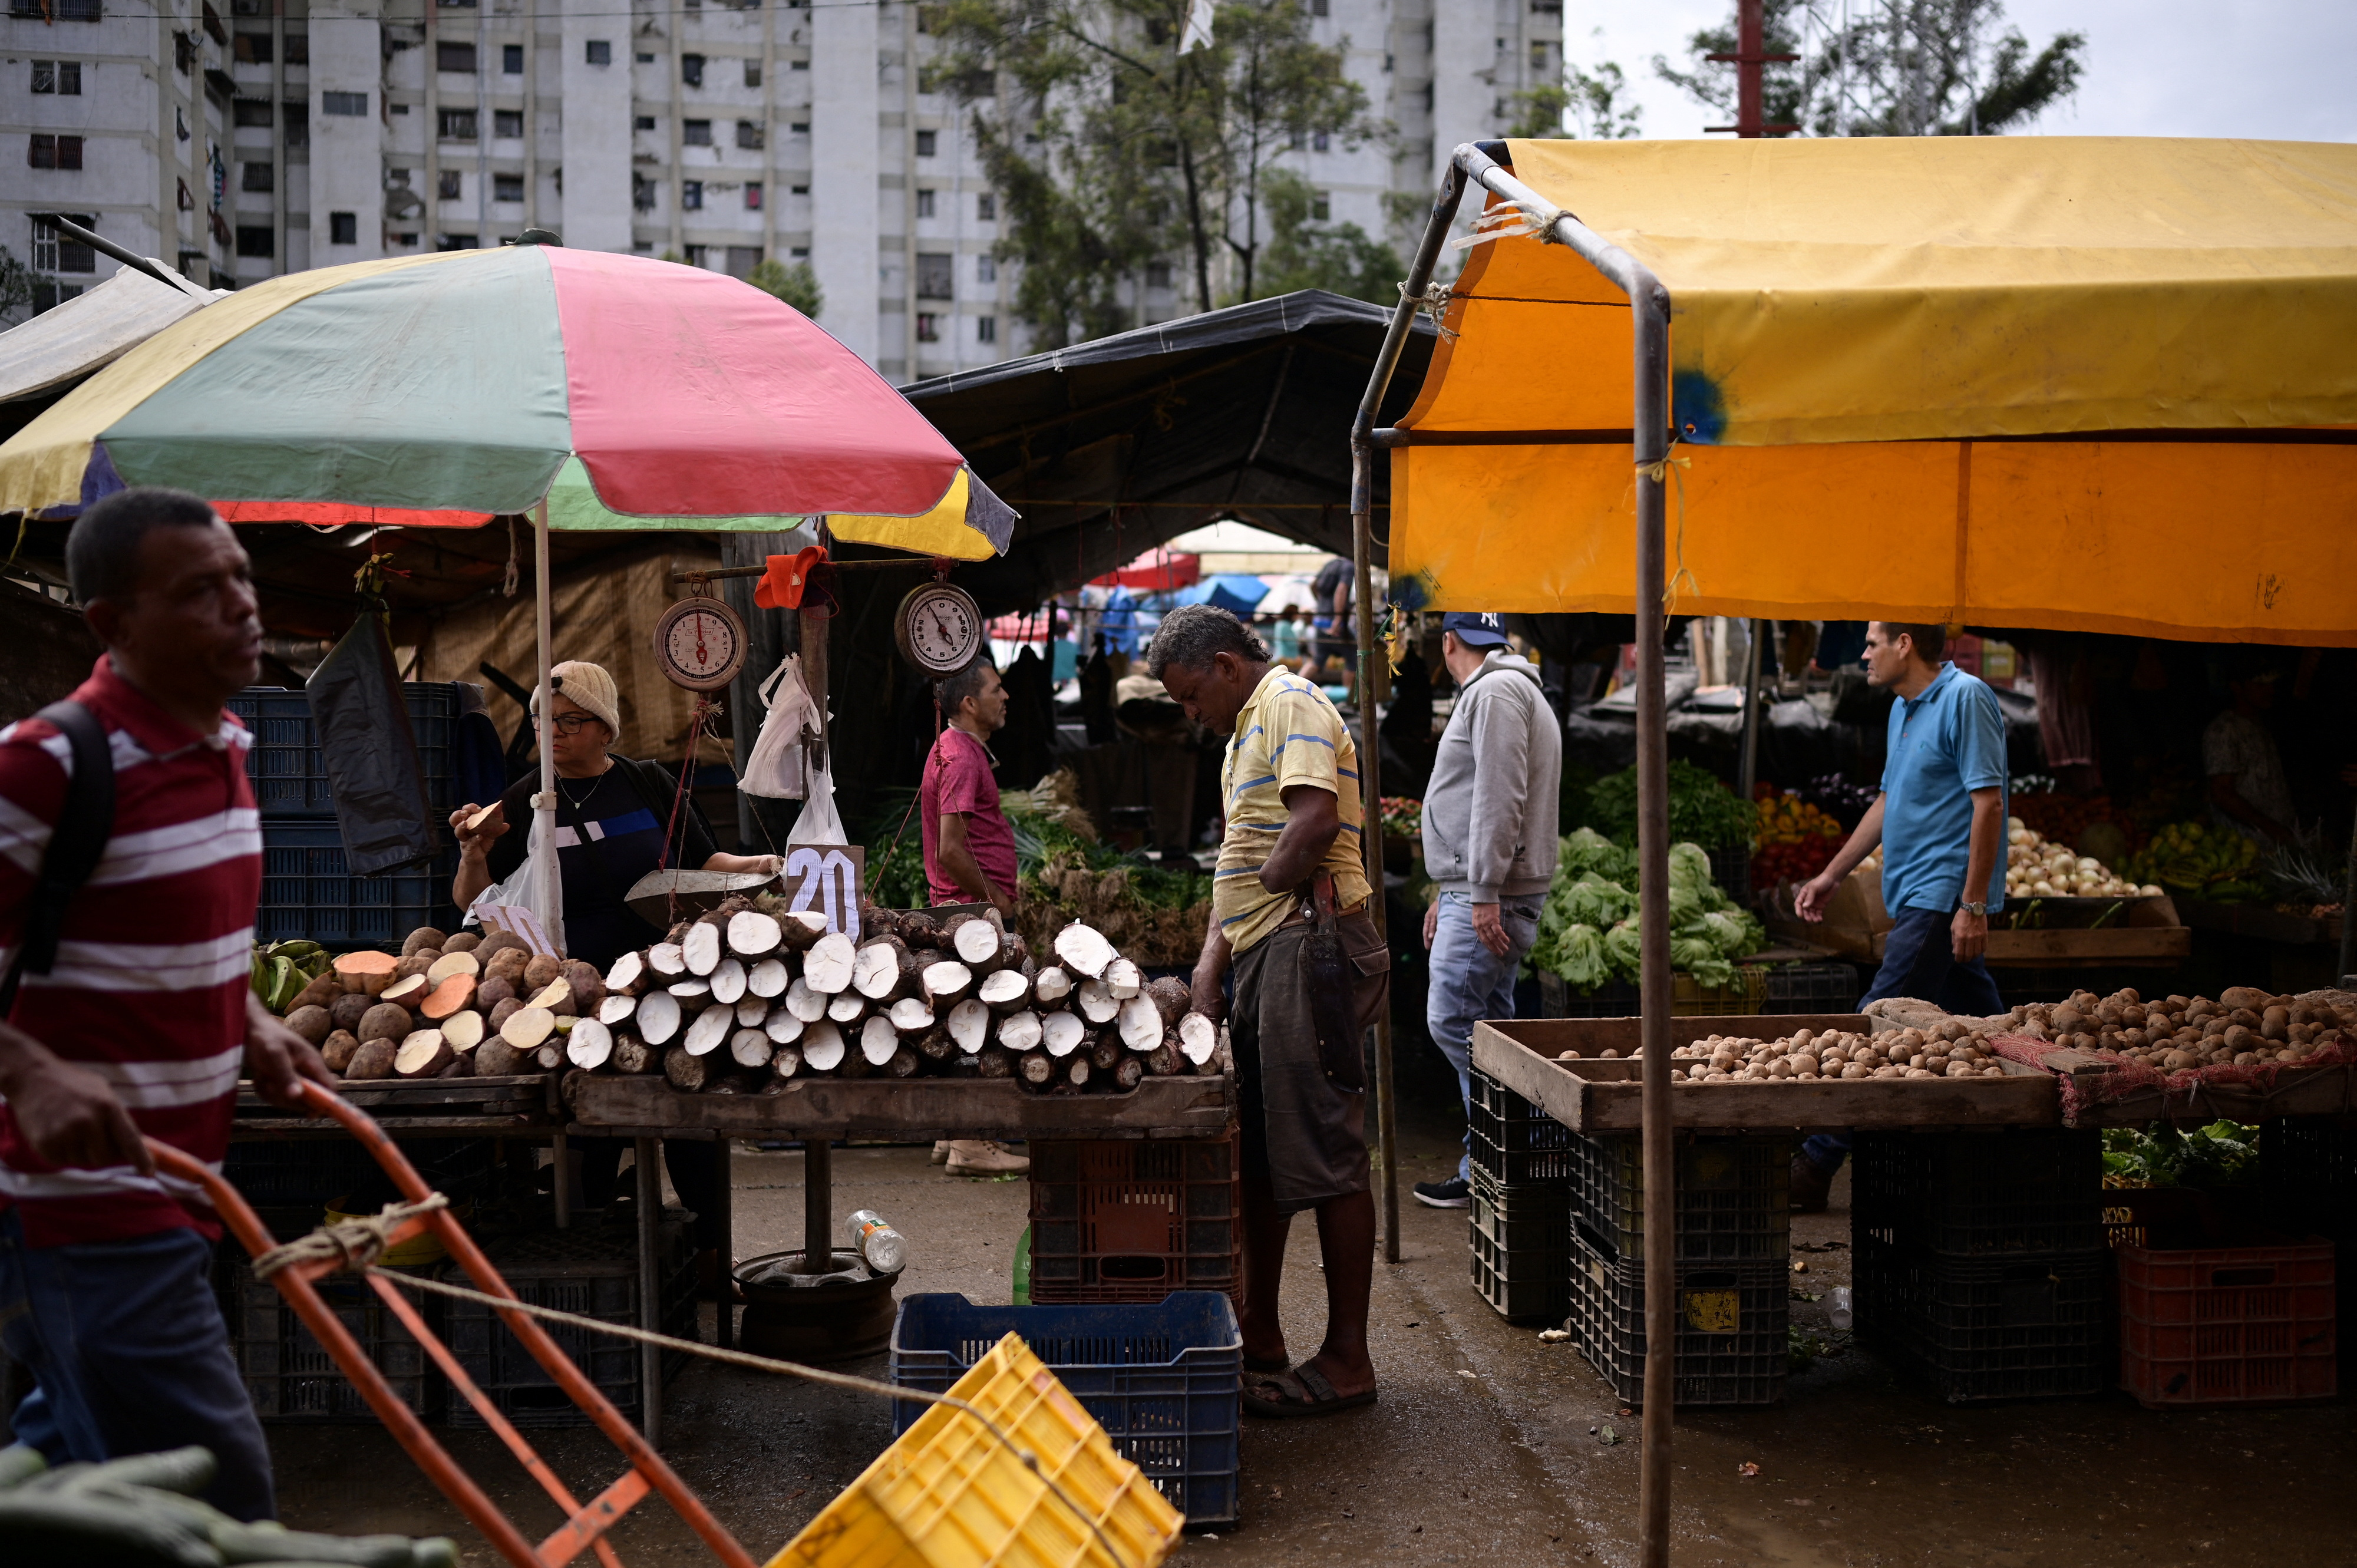
{"type": "Polygon", "coordinates": [[[1572,1129],[1471,1073],[1473,1290],[1508,1323],[1563,1323],[1572,1294],[1572,1129]]]}

